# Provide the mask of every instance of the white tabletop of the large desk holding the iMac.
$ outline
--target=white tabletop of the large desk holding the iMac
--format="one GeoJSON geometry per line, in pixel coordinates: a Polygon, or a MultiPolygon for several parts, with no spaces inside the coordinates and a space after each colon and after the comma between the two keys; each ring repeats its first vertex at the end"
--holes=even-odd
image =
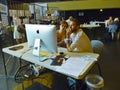
{"type": "MultiPolygon", "coordinates": [[[[74,52],[67,52],[67,50],[64,48],[58,48],[59,52],[62,51],[64,53],[66,53],[67,55],[76,59],[76,61],[78,58],[80,58],[80,60],[82,60],[82,61],[89,62],[86,66],[84,66],[84,68],[82,70],[81,69],[74,70],[74,69],[80,68],[81,65],[83,65],[83,62],[80,63],[80,61],[78,61],[78,63],[76,64],[76,62],[74,62],[75,60],[70,61],[68,59],[65,63],[62,64],[62,66],[53,66],[53,65],[50,65],[52,62],[51,59],[40,62],[39,57],[32,55],[32,50],[28,50],[27,43],[23,43],[23,44],[19,44],[19,45],[23,45],[24,48],[22,48],[18,51],[12,51],[12,50],[9,50],[10,47],[6,47],[6,48],[3,48],[2,51],[4,53],[7,53],[12,56],[16,56],[18,58],[21,57],[21,59],[23,59],[23,60],[41,65],[41,66],[43,66],[47,69],[53,70],[55,72],[59,72],[64,75],[71,76],[75,79],[82,79],[87,74],[87,72],[89,72],[89,70],[92,68],[92,66],[95,64],[95,61],[99,57],[98,54],[94,54],[94,53],[74,53],[74,52]],[[70,62],[72,64],[72,66],[71,66],[70,62]],[[70,65],[70,67],[68,67],[66,65],[68,65],[68,66],[70,65]],[[74,70],[74,72],[72,73],[71,71],[73,71],[73,70],[74,70]]],[[[11,46],[11,47],[13,47],[13,46],[11,46]]]]}

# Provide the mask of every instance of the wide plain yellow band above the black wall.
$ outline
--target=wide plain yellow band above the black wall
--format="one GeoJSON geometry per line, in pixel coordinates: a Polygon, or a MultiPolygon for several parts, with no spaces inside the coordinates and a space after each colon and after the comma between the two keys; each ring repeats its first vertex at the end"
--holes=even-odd
{"type": "Polygon", "coordinates": [[[59,10],[120,8],[120,0],[77,0],[48,2],[48,7],[57,7],[59,10]]]}

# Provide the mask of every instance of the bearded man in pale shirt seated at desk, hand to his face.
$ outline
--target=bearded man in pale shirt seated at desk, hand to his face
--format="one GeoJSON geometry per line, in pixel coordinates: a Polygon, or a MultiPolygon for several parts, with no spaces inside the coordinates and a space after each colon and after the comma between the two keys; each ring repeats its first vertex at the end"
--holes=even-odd
{"type": "Polygon", "coordinates": [[[68,51],[93,52],[88,36],[80,28],[80,23],[73,19],[64,40],[68,51]]]}

